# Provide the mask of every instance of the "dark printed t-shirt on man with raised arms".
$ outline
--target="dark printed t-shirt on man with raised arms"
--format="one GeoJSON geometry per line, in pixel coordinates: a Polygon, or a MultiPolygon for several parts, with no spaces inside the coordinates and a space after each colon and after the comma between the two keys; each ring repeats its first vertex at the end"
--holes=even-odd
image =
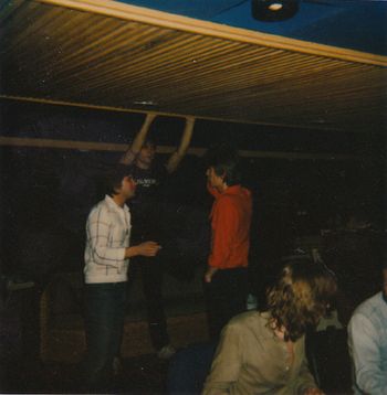
{"type": "Polygon", "coordinates": [[[133,167],[132,175],[136,181],[136,195],[130,199],[133,239],[140,242],[160,235],[163,211],[163,184],[167,178],[163,163],[154,163],[150,169],[133,167]]]}

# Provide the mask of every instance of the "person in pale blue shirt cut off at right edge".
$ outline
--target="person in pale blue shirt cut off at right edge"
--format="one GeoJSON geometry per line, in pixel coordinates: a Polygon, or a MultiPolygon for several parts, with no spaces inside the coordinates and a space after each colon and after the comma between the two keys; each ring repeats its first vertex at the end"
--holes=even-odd
{"type": "Polygon", "coordinates": [[[387,261],[383,291],[364,301],[348,324],[355,394],[387,395],[387,261]]]}

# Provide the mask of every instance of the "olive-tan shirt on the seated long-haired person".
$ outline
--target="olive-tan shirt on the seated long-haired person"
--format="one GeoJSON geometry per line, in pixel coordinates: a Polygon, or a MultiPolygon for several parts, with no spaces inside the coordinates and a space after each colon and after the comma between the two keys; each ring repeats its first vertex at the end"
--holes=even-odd
{"type": "Polygon", "coordinates": [[[249,311],[223,329],[203,395],[302,394],[316,387],[305,359],[304,338],[286,343],[268,328],[268,313],[249,311]]]}

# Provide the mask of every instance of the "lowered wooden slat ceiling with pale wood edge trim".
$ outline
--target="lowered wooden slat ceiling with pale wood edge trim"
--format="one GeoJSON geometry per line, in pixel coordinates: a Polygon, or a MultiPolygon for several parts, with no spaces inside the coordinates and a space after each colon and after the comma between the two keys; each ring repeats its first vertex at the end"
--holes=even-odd
{"type": "Polygon", "coordinates": [[[384,130],[384,56],[103,0],[17,0],[0,25],[2,98],[384,130]]]}

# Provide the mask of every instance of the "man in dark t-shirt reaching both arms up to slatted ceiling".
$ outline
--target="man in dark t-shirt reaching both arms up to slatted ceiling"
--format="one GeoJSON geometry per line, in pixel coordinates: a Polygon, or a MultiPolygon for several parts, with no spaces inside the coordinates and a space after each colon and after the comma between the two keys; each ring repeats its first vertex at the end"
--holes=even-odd
{"type": "MultiPolygon", "coordinates": [[[[149,137],[150,126],[156,118],[148,114],[143,127],[136,135],[133,143],[121,159],[123,164],[133,166],[133,178],[137,184],[136,196],[130,201],[133,239],[155,239],[161,237],[158,201],[160,199],[158,186],[164,180],[176,171],[189,147],[195,118],[187,117],[180,145],[170,156],[165,166],[155,164],[156,143],[149,137]]],[[[142,271],[143,291],[147,305],[147,318],[151,343],[160,359],[168,359],[175,353],[169,342],[166,317],[164,312],[163,285],[163,254],[157,258],[138,257],[134,261],[135,270],[142,271]]]]}

